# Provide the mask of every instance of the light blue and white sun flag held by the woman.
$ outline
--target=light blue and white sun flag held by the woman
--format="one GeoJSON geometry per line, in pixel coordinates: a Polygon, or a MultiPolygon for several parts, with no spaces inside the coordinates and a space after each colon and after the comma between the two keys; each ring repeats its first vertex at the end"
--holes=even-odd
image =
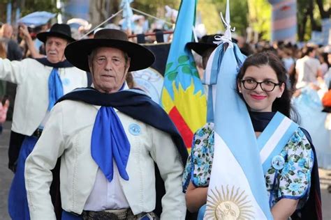
{"type": "Polygon", "coordinates": [[[227,2],[226,33],[205,72],[205,83],[212,85],[207,113],[213,113],[215,133],[204,219],[272,219],[253,125],[236,92],[237,72],[245,56],[230,42],[228,6],[227,2]]]}

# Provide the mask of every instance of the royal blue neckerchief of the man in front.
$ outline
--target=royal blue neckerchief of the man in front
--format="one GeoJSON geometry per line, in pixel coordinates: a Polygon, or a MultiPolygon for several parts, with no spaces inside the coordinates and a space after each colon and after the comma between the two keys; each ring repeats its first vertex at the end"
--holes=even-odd
{"type": "Polygon", "coordinates": [[[119,117],[112,107],[101,107],[91,137],[91,155],[109,182],[114,177],[112,159],[115,160],[119,175],[128,180],[126,164],[130,153],[130,143],[119,117]]]}

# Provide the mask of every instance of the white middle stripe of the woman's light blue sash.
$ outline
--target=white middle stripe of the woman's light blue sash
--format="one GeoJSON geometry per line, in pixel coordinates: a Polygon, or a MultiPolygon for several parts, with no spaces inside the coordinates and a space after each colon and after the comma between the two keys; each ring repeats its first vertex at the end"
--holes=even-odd
{"type": "Polygon", "coordinates": [[[262,164],[269,157],[269,155],[272,153],[274,148],[276,148],[277,144],[279,143],[283,135],[286,133],[291,123],[292,120],[290,120],[287,117],[284,117],[284,119],[281,121],[280,125],[277,127],[276,131],[274,132],[274,134],[272,134],[272,136],[267,141],[267,143],[265,143],[265,146],[263,146],[262,150],[260,151],[260,159],[262,164]]]}

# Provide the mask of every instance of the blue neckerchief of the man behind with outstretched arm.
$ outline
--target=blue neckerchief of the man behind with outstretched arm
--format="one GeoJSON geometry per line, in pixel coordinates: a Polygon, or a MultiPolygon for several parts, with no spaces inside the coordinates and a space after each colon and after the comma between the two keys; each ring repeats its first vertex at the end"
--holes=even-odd
{"type": "Polygon", "coordinates": [[[53,68],[48,77],[48,111],[54,107],[55,102],[64,95],[64,88],[59,76],[59,69],[53,68]]]}

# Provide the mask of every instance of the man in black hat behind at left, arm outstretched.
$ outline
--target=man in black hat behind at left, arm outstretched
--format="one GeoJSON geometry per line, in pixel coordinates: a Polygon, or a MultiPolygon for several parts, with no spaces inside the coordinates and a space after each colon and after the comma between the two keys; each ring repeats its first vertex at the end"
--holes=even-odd
{"type": "Polygon", "coordinates": [[[41,135],[50,110],[63,94],[87,86],[87,73],[73,67],[64,56],[66,45],[74,41],[67,24],[54,24],[49,32],[37,37],[45,43],[47,58],[0,59],[0,79],[17,84],[8,152],[9,168],[16,171],[8,199],[12,219],[29,219],[24,162],[41,135]]]}

